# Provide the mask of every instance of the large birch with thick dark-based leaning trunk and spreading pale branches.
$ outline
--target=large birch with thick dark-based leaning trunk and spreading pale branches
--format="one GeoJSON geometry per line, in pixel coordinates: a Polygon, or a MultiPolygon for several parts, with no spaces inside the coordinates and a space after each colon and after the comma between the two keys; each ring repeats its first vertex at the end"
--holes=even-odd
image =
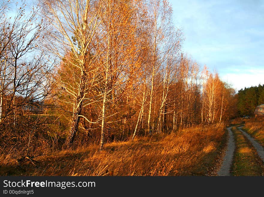
{"type": "MultiPolygon", "coordinates": [[[[100,81],[101,70],[97,62],[99,50],[93,50],[93,45],[105,5],[96,0],[43,0],[41,5],[42,14],[50,24],[46,48],[55,58],[64,61],[73,78],[68,81],[65,75],[56,76],[58,86],[73,98],[69,102],[72,117],[65,142],[65,147],[69,147],[76,136],[80,117],[83,117],[83,107],[95,102],[95,95],[90,93],[100,81]]],[[[89,117],[84,118],[90,121],[89,117]]]]}

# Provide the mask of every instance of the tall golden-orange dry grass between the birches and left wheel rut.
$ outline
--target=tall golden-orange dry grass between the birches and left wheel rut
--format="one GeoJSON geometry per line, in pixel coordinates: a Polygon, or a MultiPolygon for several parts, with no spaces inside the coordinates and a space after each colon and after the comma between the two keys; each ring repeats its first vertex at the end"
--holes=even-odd
{"type": "Polygon", "coordinates": [[[1,175],[31,176],[190,176],[212,173],[226,139],[223,124],[196,126],[170,134],[136,138],[133,142],[59,151],[17,163],[6,156],[1,175]]]}

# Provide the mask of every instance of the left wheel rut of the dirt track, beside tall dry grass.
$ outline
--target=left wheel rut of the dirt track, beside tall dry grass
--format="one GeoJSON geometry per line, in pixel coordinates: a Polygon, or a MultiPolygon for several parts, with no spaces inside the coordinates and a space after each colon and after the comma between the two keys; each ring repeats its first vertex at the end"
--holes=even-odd
{"type": "Polygon", "coordinates": [[[223,158],[223,163],[220,170],[217,172],[218,176],[230,176],[230,168],[232,165],[233,155],[235,151],[235,140],[233,136],[233,132],[231,131],[231,127],[227,128],[228,130],[228,142],[225,156],[223,158]]]}

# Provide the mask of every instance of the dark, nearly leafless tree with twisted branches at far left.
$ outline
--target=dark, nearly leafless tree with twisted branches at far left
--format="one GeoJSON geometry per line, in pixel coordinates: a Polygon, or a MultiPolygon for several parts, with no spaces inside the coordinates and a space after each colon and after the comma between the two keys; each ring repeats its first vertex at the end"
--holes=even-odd
{"type": "Polygon", "coordinates": [[[1,122],[13,115],[15,130],[17,108],[41,103],[49,94],[47,79],[52,68],[39,47],[44,24],[37,18],[36,8],[28,13],[22,2],[15,16],[5,18],[1,28],[1,122]],[[22,99],[16,100],[17,97],[22,99]]]}

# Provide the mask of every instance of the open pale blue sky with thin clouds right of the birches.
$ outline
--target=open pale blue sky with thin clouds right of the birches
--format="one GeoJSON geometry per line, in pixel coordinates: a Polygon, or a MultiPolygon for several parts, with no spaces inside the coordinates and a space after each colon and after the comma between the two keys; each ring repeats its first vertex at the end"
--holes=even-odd
{"type": "Polygon", "coordinates": [[[264,1],[169,0],[183,51],[237,91],[264,84],[264,1]]]}

